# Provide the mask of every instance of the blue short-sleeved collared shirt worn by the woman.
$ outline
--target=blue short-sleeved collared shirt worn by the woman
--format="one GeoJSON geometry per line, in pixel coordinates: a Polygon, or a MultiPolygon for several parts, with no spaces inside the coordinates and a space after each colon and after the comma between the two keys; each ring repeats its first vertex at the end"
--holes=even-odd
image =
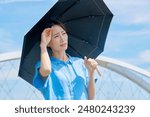
{"type": "Polygon", "coordinates": [[[46,100],[88,99],[88,72],[81,58],[70,57],[64,62],[51,57],[52,72],[43,81],[39,74],[40,62],[36,64],[33,85],[46,100]]]}

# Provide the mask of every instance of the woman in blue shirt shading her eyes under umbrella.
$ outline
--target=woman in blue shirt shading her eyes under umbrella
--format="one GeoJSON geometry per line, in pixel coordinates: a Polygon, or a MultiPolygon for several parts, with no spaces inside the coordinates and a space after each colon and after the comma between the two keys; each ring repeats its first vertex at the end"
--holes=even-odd
{"type": "Polygon", "coordinates": [[[47,100],[94,99],[97,62],[87,57],[84,60],[71,57],[66,53],[67,48],[65,27],[54,21],[41,34],[41,60],[36,65],[34,86],[47,100]],[[47,47],[51,48],[52,56],[49,56],[47,47]]]}

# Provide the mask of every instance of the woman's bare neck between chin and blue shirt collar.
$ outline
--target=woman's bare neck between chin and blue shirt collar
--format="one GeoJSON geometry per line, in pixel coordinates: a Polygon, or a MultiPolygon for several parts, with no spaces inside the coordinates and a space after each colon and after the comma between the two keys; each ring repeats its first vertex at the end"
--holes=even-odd
{"type": "Polygon", "coordinates": [[[66,52],[55,52],[52,54],[53,57],[62,60],[62,61],[67,61],[68,60],[68,56],[66,54],[66,52]]]}

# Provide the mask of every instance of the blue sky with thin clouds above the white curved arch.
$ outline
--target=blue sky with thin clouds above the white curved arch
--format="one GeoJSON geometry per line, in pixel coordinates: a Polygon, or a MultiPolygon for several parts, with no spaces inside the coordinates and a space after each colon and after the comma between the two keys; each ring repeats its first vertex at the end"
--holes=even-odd
{"type": "MultiPolygon", "coordinates": [[[[102,55],[150,70],[149,0],[104,0],[114,17],[102,55]]],[[[57,0],[0,0],[0,53],[22,49],[23,36],[57,0]]]]}

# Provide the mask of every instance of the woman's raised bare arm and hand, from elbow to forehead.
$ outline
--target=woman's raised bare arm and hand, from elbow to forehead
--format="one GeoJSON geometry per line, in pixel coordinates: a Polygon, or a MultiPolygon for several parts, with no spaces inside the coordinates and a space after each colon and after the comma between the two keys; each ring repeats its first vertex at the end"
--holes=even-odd
{"type": "Polygon", "coordinates": [[[51,62],[47,51],[47,45],[49,44],[50,41],[51,41],[51,28],[46,28],[41,34],[41,44],[40,44],[41,66],[39,72],[43,77],[46,77],[51,73],[51,62]]]}

